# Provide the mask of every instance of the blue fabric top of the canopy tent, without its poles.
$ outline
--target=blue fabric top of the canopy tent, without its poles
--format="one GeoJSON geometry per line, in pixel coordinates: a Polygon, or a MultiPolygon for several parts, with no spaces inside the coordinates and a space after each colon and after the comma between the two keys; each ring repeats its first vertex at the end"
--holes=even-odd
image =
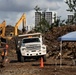
{"type": "Polygon", "coordinates": [[[76,31],[70,32],[58,38],[58,41],[76,41],[76,31]]]}

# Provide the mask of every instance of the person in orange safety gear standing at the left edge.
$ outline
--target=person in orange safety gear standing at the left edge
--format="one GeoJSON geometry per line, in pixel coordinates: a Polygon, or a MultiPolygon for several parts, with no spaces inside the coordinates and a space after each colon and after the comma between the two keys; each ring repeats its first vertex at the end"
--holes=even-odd
{"type": "Polygon", "coordinates": [[[8,54],[8,45],[5,44],[5,47],[3,48],[3,51],[2,51],[2,64],[1,66],[3,67],[4,66],[4,63],[8,61],[7,59],[7,54],[8,54]]]}

